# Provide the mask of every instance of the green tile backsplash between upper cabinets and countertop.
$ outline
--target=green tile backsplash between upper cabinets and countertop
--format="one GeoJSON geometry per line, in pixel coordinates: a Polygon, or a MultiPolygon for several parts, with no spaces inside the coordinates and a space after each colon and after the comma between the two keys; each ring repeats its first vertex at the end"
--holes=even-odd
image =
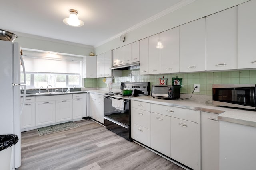
{"type": "MultiPolygon", "coordinates": [[[[256,70],[223,71],[223,72],[198,72],[180,74],[140,75],[139,69],[124,70],[122,77],[114,77],[113,89],[120,89],[121,82],[150,82],[159,84],[159,78],[167,78],[167,84],[172,84],[172,77],[182,78],[181,93],[191,94],[194,84],[200,84],[200,92],[194,94],[212,95],[212,84],[256,84],[256,70]],[[131,75],[131,76],[129,76],[131,75]]],[[[85,87],[107,88],[104,78],[84,78],[85,87]]]]}

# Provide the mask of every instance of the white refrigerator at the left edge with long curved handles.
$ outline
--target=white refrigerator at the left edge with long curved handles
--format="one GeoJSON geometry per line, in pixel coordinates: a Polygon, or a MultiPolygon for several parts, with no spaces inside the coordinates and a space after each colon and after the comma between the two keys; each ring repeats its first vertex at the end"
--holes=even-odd
{"type": "Polygon", "coordinates": [[[21,106],[20,87],[24,87],[25,94],[22,99],[25,100],[25,75],[20,45],[0,40],[0,135],[18,135],[18,143],[12,146],[10,169],[13,170],[21,164],[20,115],[23,106],[21,106]],[[20,82],[21,66],[24,71],[24,82],[20,82]]]}

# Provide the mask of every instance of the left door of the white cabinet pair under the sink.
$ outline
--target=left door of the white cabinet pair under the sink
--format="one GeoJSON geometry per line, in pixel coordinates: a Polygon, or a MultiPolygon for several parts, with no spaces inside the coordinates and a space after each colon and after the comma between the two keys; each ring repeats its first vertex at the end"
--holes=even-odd
{"type": "Polygon", "coordinates": [[[36,126],[55,123],[55,101],[36,102],[36,126]]]}

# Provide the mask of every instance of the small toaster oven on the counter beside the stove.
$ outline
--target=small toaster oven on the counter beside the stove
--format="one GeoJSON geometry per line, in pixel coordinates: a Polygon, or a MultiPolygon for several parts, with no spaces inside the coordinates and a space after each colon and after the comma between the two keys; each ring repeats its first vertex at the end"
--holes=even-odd
{"type": "Polygon", "coordinates": [[[180,98],[180,85],[152,85],[153,98],[178,99],[180,98]]]}

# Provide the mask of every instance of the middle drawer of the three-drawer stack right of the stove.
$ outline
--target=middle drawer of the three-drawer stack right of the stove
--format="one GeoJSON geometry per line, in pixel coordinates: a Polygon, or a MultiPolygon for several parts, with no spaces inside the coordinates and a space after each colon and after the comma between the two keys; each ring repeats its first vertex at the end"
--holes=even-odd
{"type": "Polygon", "coordinates": [[[150,112],[132,108],[131,123],[135,123],[137,125],[150,129],[150,112]]]}

